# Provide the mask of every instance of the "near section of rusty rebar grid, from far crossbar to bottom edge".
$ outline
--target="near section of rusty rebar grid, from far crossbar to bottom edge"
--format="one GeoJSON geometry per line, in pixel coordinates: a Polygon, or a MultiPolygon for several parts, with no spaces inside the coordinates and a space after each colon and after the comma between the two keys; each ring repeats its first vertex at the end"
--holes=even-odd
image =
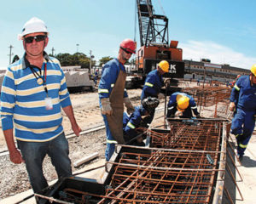
{"type": "Polygon", "coordinates": [[[113,162],[113,189],[107,190],[105,199],[130,203],[209,203],[213,178],[218,172],[218,154],[182,150],[122,152],[119,161],[113,162]]]}

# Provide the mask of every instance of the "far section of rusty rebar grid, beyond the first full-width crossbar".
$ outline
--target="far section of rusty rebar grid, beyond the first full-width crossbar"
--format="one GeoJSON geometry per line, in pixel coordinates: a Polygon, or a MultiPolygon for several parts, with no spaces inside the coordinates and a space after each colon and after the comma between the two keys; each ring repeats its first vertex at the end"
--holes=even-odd
{"type": "Polygon", "coordinates": [[[222,122],[185,122],[169,120],[169,133],[150,131],[152,147],[180,150],[218,150],[222,134],[222,122]]]}

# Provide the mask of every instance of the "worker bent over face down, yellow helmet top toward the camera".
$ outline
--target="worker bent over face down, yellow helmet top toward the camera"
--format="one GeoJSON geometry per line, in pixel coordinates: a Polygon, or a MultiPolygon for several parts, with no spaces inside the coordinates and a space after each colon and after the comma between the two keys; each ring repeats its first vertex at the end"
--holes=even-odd
{"type": "Polygon", "coordinates": [[[181,111],[184,118],[192,118],[192,111],[197,118],[201,117],[197,111],[195,99],[189,94],[181,92],[175,92],[170,96],[166,117],[174,117],[177,111],[181,111]]]}

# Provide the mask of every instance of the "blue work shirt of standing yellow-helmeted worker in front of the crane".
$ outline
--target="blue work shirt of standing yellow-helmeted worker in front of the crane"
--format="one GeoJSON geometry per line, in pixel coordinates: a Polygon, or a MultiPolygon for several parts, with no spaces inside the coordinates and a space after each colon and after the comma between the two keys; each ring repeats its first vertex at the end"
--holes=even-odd
{"type": "Polygon", "coordinates": [[[163,77],[160,75],[160,73],[157,70],[150,71],[143,86],[141,99],[146,99],[148,96],[158,98],[158,94],[160,94],[160,88],[163,86],[163,77]]]}

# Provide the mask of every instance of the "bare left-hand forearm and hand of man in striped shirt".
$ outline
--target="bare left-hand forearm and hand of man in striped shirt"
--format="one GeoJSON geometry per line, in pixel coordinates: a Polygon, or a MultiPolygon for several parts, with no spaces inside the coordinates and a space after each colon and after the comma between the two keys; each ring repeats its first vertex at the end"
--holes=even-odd
{"type": "Polygon", "coordinates": [[[9,159],[15,164],[24,162],[20,151],[15,146],[15,140],[13,135],[13,129],[3,130],[5,141],[9,150],[9,159]]]}

